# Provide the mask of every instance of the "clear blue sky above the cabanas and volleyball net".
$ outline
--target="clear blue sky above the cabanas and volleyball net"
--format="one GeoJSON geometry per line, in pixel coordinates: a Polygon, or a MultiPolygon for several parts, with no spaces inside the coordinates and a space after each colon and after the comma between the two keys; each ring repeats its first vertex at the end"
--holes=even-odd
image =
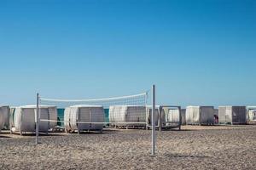
{"type": "Polygon", "coordinates": [[[3,0],[0,58],[0,104],[256,105],[256,1],[3,0]]]}

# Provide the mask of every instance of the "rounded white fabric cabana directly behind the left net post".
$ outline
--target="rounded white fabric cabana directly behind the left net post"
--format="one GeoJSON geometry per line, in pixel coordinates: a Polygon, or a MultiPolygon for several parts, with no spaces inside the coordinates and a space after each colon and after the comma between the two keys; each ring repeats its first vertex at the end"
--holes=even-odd
{"type": "MultiPolygon", "coordinates": [[[[36,105],[25,105],[15,108],[12,132],[23,133],[36,131],[36,105]]],[[[40,119],[50,120],[50,114],[57,114],[55,106],[40,105],[39,106],[40,119]],[[54,112],[54,113],[53,113],[54,112]]],[[[48,133],[49,128],[53,127],[54,123],[40,121],[39,132],[48,133]]]]}

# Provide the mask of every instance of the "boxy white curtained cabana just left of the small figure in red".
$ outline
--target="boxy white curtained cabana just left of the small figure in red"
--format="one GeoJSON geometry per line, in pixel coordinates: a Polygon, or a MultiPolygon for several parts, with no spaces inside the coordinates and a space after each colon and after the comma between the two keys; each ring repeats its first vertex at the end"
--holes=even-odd
{"type": "Polygon", "coordinates": [[[189,125],[213,124],[214,107],[188,106],[186,109],[186,123],[189,125]]]}

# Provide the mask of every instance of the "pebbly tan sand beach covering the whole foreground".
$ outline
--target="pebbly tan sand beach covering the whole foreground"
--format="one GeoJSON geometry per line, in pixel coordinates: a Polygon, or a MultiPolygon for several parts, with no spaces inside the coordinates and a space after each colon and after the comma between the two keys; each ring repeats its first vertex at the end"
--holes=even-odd
{"type": "Polygon", "coordinates": [[[183,126],[150,131],[49,133],[38,146],[32,135],[0,134],[0,169],[256,169],[256,126],[183,126]]]}

